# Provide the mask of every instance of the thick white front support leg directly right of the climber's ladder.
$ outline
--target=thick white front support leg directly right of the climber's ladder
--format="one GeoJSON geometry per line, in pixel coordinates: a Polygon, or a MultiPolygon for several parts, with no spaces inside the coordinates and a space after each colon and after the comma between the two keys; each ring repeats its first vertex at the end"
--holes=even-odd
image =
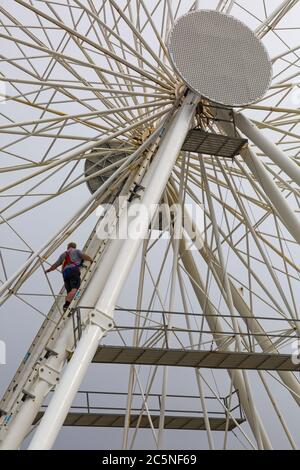
{"type": "MultiPolygon", "coordinates": [[[[194,118],[198,102],[199,97],[189,92],[170,127],[165,130],[165,134],[161,139],[161,145],[150,166],[149,174],[147,173],[143,180],[145,192],[141,198],[141,204],[148,211],[150,219],[155,213],[155,205],[159,203],[176,163],[194,118]]],[[[104,328],[101,327],[101,319],[103,319],[104,324],[109,319],[112,322],[116,301],[134,262],[140,243],[146,237],[150,221],[143,213],[140,213],[136,222],[140,226],[140,236],[138,239],[127,238],[124,240],[114,266],[106,279],[102,293],[99,293],[99,299],[92,313],[92,315],[98,318],[98,323],[91,323],[79,341],[77,349],[66,368],[60,384],[54,392],[50,405],[29,446],[31,450],[49,449],[52,447],[77,393],[81,380],[97,350],[99,340],[105,332],[105,326],[104,328]]],[[[120,225],[122,223],[123,221],[121,220],[120,225]]],[[[87,305],[89,304],[87,303],[87,305]]]]}

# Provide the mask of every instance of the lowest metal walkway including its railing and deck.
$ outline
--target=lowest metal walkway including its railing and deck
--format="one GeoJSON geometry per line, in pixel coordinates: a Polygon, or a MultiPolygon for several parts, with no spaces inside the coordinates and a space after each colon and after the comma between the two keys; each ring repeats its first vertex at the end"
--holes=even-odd
{"type": "MultiPolygon", "coordinates": [[[[127,392],[84,391],[77,393],[74,403],[65,419],[64,426],[123,428],[126,416],[127,392]],[[109,405],[108,405],[109,403],[109,405]]],[[[143,409],[143,399],[139,393],[132,394],[133,408],[130,416],[130,427],[139,426],[149,429],[149,415],[154,428],[159,427],[161,395],[149,393],[148,413],[143,409]],[[143,411],[141,413],[141,410],[143,411]]],[[[205,431],[203,410],[199,409],[199,396],[171,395],[166,396],[168,406],[165,410],[165,429],[205,431]]],[[[239,394],[233,391],[225,397],[205,397],[210,427],[213,431],[231,431],[245,422],[241,409],[239,394]],[[226,411],[229,410],[229,413],[226,411]]],[[[37,415],[34,424],[42,418],[47,405],[37,415]]]]}

